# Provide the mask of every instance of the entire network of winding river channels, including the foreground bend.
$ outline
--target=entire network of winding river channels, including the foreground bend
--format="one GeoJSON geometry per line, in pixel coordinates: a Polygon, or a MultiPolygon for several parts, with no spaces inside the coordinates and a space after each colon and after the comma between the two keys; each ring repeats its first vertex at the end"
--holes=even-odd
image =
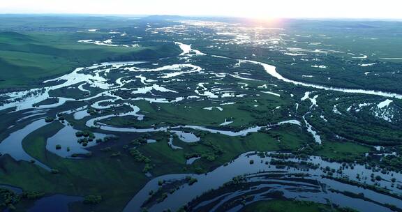
{"type": "MultiPolygon", "coordinates": [[[[179,57],[186,59],[186,61],[190,61],[192,56],[204,56],[207,54],[204,54],[198,50],[193,50],[191,49],[191,45],[185,45],[183,43],[176,43],[179,45],[181,50],[183,50],[183,53],[179,55],[179,57]]],[[[214,55],[210,55],[214,56],[214,55]]],[[[215,57],[221,57],[225,58],[222,56],[215,56],[215,57]]],[[[228,58],[226,58],[228,59],[228,58]]],[[[292,83],[295,85],[300,85],[300,86],[306,86],[306,87],[311,87],[314,89],[324,89],[324,90],[329,90],[329,91],[340,91],[343,93],[364,93],[368,95],[376,95],[376,96],[384,96],[387,98],[399,98],[402,99],[402,95],[398,93],[387,93],[383,91],[370,91],[370,90],[362,90],[362,89],[342,89],[342,88],[334,88],[330,86],[323,86],[323,85],[318,85],[318,84],[308,84],[305,82],[297,82],[292,79],[287,79],[280,75],[279,73],[276,72],[276,67],[271,66],[266,63],[261,63],[258,61],[251,61],[251,60],[239,60],[241,63],[253,63],[253,64],[258,64],[262,66],[265,71],[271,75],[272,77],[275,77],[276,79],[280,79],[283,82],[288,82],[292,83]]],[[[249,132],[258,132],[258,130],[261,130],[261,128],[270,128],[271,126],[275,125],[281,125],[281,124],[293,124],[297,126],[301,126],[300,121],[297,120],[288,120],[288,121],[282,121],[279,123],[276,123],[271,126],[255,126],[253,128],[246,128],[243,130],[239,130],[237,132],[233,132],[230,130],[217,130],[217,129],[211,129],[207,128],[204,126],[176,126],[176,127],[165,127],[165,128],[120,128],[116,126],[108,126],[104,123],[101,123],[102,120],[104,119],[109,119],[115,116],[135,116],[137,117],[137,121],[142,121],[144,115],[138,114],[140,112],[140,108],[137,107],[136,105],[133,105],[131,103],[117,103],[117,100],[147,100],[149,102],[156,102],[156,103],[177,103],[182,100],[185,100],[189,97],[177,97],[174,98],[174,100],[168,101],[166,98],[130,98],[130,99],[123,99],[119,96],[116,96],[113,94],[112,91],[118,91],[124,90],[123,86],[128,83],[123,77],[119,78],[116,80],[116,82],[110,82],[105,76],[106,73],[109,73],[111,70],[114,69],[123,69],[126,72],[130,73],[135,73],[139,74],[142,72],[158,72],[161,73],[161,78],[162,79],[170,79],[172,77],[177,77],[178,75],[184,75],[187,73],[202,73],[202,68],[199,66],[194,66],[192,64],[173,64],[170,66],[163,66],[159,68],[137,68],[135,67],[136,64],[139,63],[144,63],[144,62],[126,62],[126,63],[101,63],[98,65],[94,65],[91,67],[87,68],[77,68],[75,69],[72,73],[69,73],[67,75],[57,77],[55,79],[50,79],[45,81],[44,83],[59,83],[54,86],[46,86],[43,89],[31,89],[29,91],[21,91],[21,92],[12,92],[12,93],[5,93],[2,94],[1,97],[6,98],[8,101],[7,103],[4,103],[3,105],[0,106],[0,110],[3,109],[9,109],[9,108],[15,108],[14,112],[19,112],[22,110],[31,110],[34,111],[35,116],[42,116],[44,115],[43,110],[44,109],[52,109],[55,107],[59,107],[61,105],[64,105],[67,101],[87,101],[87,100],[94,100],[95,98],[103,97],[107,98],[106,100],[99,100],[96,101],[96,103],[92,104],[91,107],[94,107],[96,109],[107,109],[113,106],[128,106],[131,108],[131,111],[129,112],[122,112],[119,114],[108,114],[105,116],[101,117],[96,117],[94,119],[88,119],[86,121],[86,125],[88,127],[96,127],[100,128],[101,130],[109,131],[109,132],[156,132],[156,131],[166,131],[171,129],[172,133],[175,133],[178,135],[179,139],[183,140],[184,142],[198,142],[200,138],[196,137],[193,133],[191,132],[183,132],[180,129],[193,129],[193,130],[202,130],[202,131],[207,131],[211,133],[221,133],[223,135],[228,135],[228,136],[245,136],[249,132]],[[173,73],[166,73],[165,71],[172,71],[173,73]],[[85,72],[90,72],[90,73],[85,73],[85,72]],[[38,107],[34,107],[36,103],[40,103],[43,100],[46,100],[47,98],[50,97],[49,92],[54,91],[56,89],[68,87],[68,86],[73,86],[74,84],[80,84],[77,88],[80,89],[80,91],[88,93],[88,97],[82,98],[82,99],[73,99],[73,98],[61,98],[57,97],[59,99],[58,103],[55,104],[50,104],[50,105],[40,105],[38,107]],[[84,84],[86,84],[89,87],[93,88],[99,88],[102,89],[103,91],[101,93],[98,93],[94,96],[90,96],[91,92],[87,89],[84,89],[84,84]],[[107,106],[102,106],[102,103],[108,102],[109,105],[107,106]]],[[[144,85],[143,87],[137,88],[136,92],[137,94],[141,93],[149,93],[151,91],[158,91],[158,92],[170,92],[174,93],[177,91],[173,91],[170,89],[165,89],[163,86],[159,86],[157,84],[149,85],[154,82],[152,79],[147,79],[144,78],[142,75],[140,75],[138,78],[141,79],[142,84],[144,85]]],[[[199,93],[195,93],[199,94],[199,93]]],[[[225,97],[230,97],[228,96],[223,96],[225,97]]],[[[200,95],[198,96],[192,96],[192,98],[201,98],[200,95]]],[[[214,98],[218,98],[218,96],[214,96],[214,98]]],[[[85,109],[87,109],[89,105],[86,105],[84,107],[81,107],[80,110],[75,110],[74,117],[75,119],[84,119],[85,116],[88,116],[88,114],[85,112],[85,109]]],[[[26,119],[32,119],[35,118],[33,115],[29,115],[26,117],[26,119]]],[[[32,158],[29,156],[24,149],[22,148],[22,140],[24,137],[27,137],[31,132],[34,132],[34,130],[38,130],[39,128],[45,126],[47,123],[45,123],[45,120],[43,117],[40,117],[40,119],[32,119],[33,121],[29,123],[27,126],[22,128],[21,130],[17,130],[15,132],[11,132],[10,135],[4,139],[0,143],[0,149],[1,153],[6,153],[15,158],[15,160],[27,160],[27,161],[32,161],[35,162],[36,165],[39,165],[40,167],[43,167],[47,170],[50,170],[50,167],[47,167],[46,165],[43,165],[40,161],[36,160],[35,158],[32,158]]],[[[304,121],[306,121],[304,119],[304,121]]],[[[306,122],[306,125],[308,126],[308,123],[306,122]]],[[[311,126],[310,126],[311,127],[311,126]]],[[[311,129],[311,128],[310,128],[311,129]]],[[[79,145],[73,145],[71,149],[67,152],[66,150],[64,151],[56,151],[52,149],[54,145],[57,142],[61,142],[62,144],[66,144],[67,142],[70,141],[70,139],[74,139],[74,134],[76,130],[74,130],[71,126],[65,126],[62,130],[57,132],[56,135],[51,137],[47,141],[47,149],[57,153],[57,155],[61,157],[68,157],[70,153],[86,153],[87,151],[83,149],[79,145]],[[65,140],[61,139],[62,137],[65,138],[65,140]]],[[[103,134],[97,134],[97,137],[104,137],[105,135],[103,134]]],[[[316,140],[317,141],[317,140],[316,140]]],[[[320,141],[319,141],[320,142],[320,141]]],[[[170,175],[165,175],[165,176],[158,176],[147,185],[140,190],[140,192],[133,197],[131,202],[128,203],[126,206],[126,209],[124,211],[140,211],[140,206],[147,200],[148,198],[148,193],[150,190],[157,190],[158,189],[158,181],[163,179],[166,181],[174,181],[177,179],[184,179],[186,176],[192,176],[195,179],[198,179],[198,182],[193,184],[193,185],[183,185],[179,190],[174,192],[172,195],[168,195],[168,198],[166,198],[163,202],[154,204],[149,208],[149,211],[163,211],[164,209],[172,209],[172,210],[177,210],[179,209],[180,206],[183,206],[184,204],[191,202],[192,199],[195,197],[202,195],[202,193],[207,192],[208,190],[211,189],[216,189],[219,186],[223,185],[223,183],[230,181],[234,176],[239,176],[243,174],[248,174],[248,179],[250,181],[258,181],[258,182],[274,182],[274,184],[264,184],[261,183],[260,188],[269,188],[269,190],[281,190],[283,192],[284,197],[289,198],[289,199],[308,199],[311,201],[315,202],[322,202],[325,203],[327,199],[330,199],[330,201],[334,204],[339,204],[342,206],[350,206],[351,208],[361,210],[361,211],[367,211],[367,210],[375,210],[375,211],[390,211],[389,208],[385,207],[384,204],[393,204],[395,206],[398,206],[399,208],[402,208],[402,201],[401,199],[396,199],[394,197],[391,197],[389,195],[384,195],[378,192],[375,192],[373,190],[363,190],[362,188],[358,188],[355,185],[349,185],[345,183],[340,183],[338,181],[334,181],[331,179],[326,179],[322,178],[322,175],[325,175],[325,173],[322,171],[322,169],[295,169],[295,168],[290,168],[290,169],[279,169],[276,168],[274,165],[266,165],[265,162],[269,163],[272,158],[266,157],[266,158],[260,158],[259,156],[256,155],[250,155],[250,153],[244,153],[239,158],[236,160],[232,161],[229,165],[218,167],[212,172],[209,172],[207,174],[170,174],[170,175]],[[250,160],[254,160],[255,163],[251,165],[249,163],[250,160]],[[263,172],[263,173],[261,173],[263,172]],[[318,181],[320,186],[317,186],[315,184],[311,183],[301,183],[298,181],[294,181],[293,179],[283,177],[281,179],[266,179],[264,177],[264,174],[267,173],[288,173],[288,174],[296,174],[296,173],[303,173],[303,174],[308,174],[306,176],[306,179],[311,179],[313,181],[318,181]],[[325,188],[322,186],[325,185],[325,188]],[[368,200],[363,200],[359,198],[354,198],[354,197],[349,197],[347,195],[343,195],[341,192],[328,192],[328,188],[334,188],[336,190],[341,190],[342,192],[361,192],[364,194],[364,197],[367,199],[370,199],[371,201],[368,200]]],[[[290,160],[296,160],[296,159],[290,159],[290,160]]],[[[313,157],[311,156],[308,158],[309,161],[320,165],[320,167],[325,168],[325,167],[330,167],[334,169],[339,169],[341,167],[341,164],[334,163],[334,162],[327,162],[325,160],[322,160],[321,158],[318,157],[313,157]]],[[[190,161],[188,163],[192,163],[193,161],[190,161]]],[[[300,161],[298,161],[300,162],[300,161]]],[[[360,178],[366,179],[364,180],[364,183],[367,183],[369,185],[372,185],[373,182],[369,181],[367,179],[370,179],[370,174],[373,171],[371,169],[366,169],[366,167],[362,165],[355,165],[354,169],[344,169],[342,174],[337,174],[335,173],[335,176],[338,177],[346,177],[348,179],[352,179],[353,181],[359,181],[357,179],[357,174],[359,174],[360,178]]],[[[399,173],[394,173],[394,172],[389,172],[389,174],[382,174],[382,173],[375,173],[376,175],[381,176],[382,181],[378,182],[382,185],[382,187],[386,186],[388,190],[391,192],[401,192],[400,190],[397,190],[394,186],[392,186],[392,182],[390,181],[391,175],[396,177],[396,179],[402,179],[402,175],[399,173]]],[[[400,183],[400,182],[399,182],[400,183]]],[[[229,197],[235,197],[239,195],[243,195],[245,193],[248,193],[247,190],[242,190],[239,191],[238,193],[229,193],[226,194],[225,198],[229,201],[229,197]]],[[[262,195],[262,193],[258,193],[255,195],[255,199],[265,199],[265,195],[262,195]]],[[[225,201],[223,201],[225,202],[225,201]]],[[[207,202],[204,202],[203,204],[209,204],[207,202]]],[[[202,207],[202,205],[199,205],[199,207],[202,207]]],[[[218,206],[216,206],[217,209],[218,206]]],[[[239,208],[234,208],[232,209],[233,211],[239,210],[239,208]]]]}

